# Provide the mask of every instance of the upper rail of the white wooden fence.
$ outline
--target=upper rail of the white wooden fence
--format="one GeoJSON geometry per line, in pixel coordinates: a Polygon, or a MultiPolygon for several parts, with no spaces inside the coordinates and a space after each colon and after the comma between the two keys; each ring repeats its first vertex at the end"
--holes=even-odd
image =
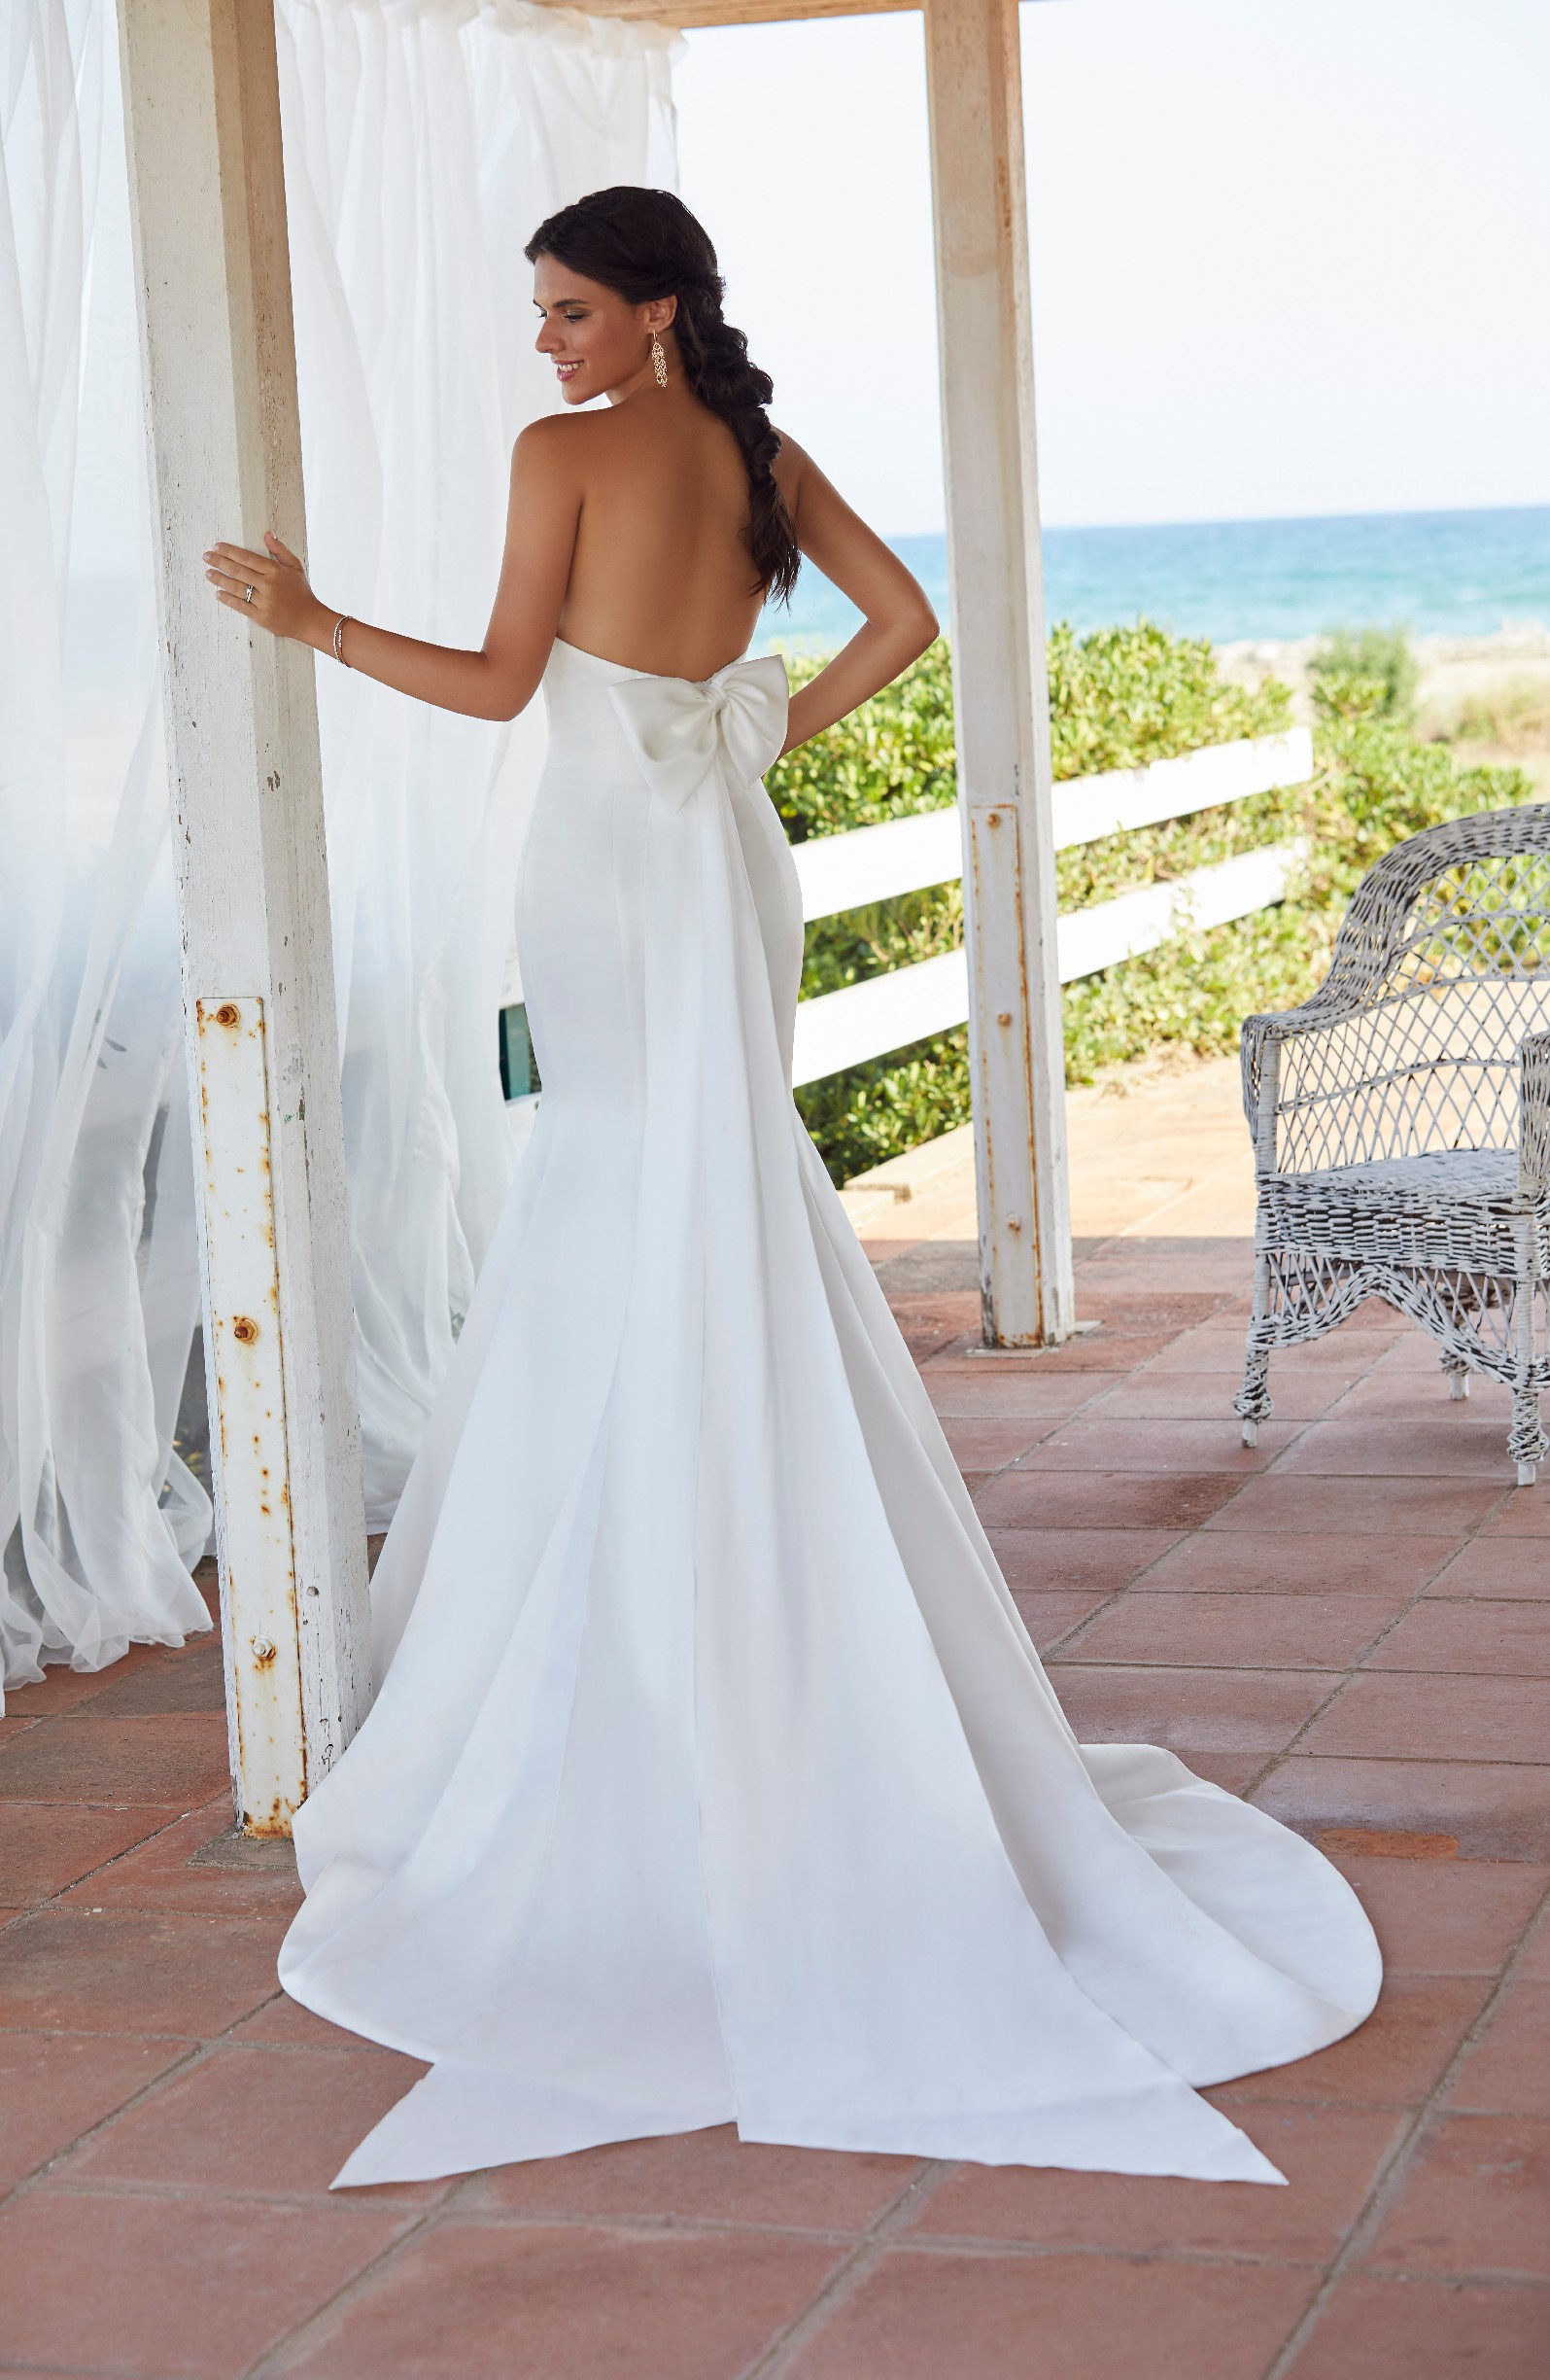
{"type": "MultiPolygon", "coordinates": [[[[1053,790],[1056,850],[1096,843],[1098,835],[1189,819],[1198,809],[1246,802],[1277,785],[1300,785],[1312,776],[1312,735],[1248,735],[1229,745],[1155,759],[1146,769],[1113,769],[1101,776],[1065,778],[1053,790]]],[[[801,914],[837,916],[875,900],[899,900],[925,885],[956,883],[963,871],[963,838],[956,809],[927,809],[887,826],[853,826],[846,835],[815,835],[792,845],[801,914]]],[[[521,1000],[518,990],[509,992],[521,1000]]]]}

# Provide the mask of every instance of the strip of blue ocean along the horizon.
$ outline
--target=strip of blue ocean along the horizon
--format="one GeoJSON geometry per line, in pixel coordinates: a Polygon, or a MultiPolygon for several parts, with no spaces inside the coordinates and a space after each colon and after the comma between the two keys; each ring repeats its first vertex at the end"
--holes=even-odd
{"type": "MultiPolygon", "coordinates": [[[[946,538],[889,543],[946,624],[946,538]]],[[[1550,505],[1046,528],[1044,590],[1048,619],[1079,635],[1141,616],[1217,645],[1367,626],[1412,635],[1550,626],[1550,505]]],[[[789,612],[765,612],[761,650],[832,650],[858,616],[808,564],[789,612]]]]}

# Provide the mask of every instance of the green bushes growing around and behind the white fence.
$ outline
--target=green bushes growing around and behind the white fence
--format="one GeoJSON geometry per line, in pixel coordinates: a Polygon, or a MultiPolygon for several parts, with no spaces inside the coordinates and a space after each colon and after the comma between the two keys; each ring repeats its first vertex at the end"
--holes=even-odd
{"type": "MultiPolygon", "coordinates": [[[[1360,645],[1365,666],[1315,674],[1310,785],[1060,854],[1060,907],[1075,909],[1260,843],[1298,833],[1312,840],[1308,881],[1279,907],[1182,935],[1141,959],[1070,983],[1063,995],[1067,1081],[1091,1081],[1101,1066],[1165,1047],[1203,1057],[1234,1050],[1243,1016],[1293,1007],[1319,983],[1346,902],[1379,852],[1438,819],[1500,809],[1529,795],[1521,771],[1462,769],[1443,745],[1412,735],[1403,716],[1403,674],[1374,664],[1379,640],[1346,640],[1341,650],[1353,645],[1360,645]]],[[[815,666],[801,674],[811,676],[815,666]]],[[[1067,628],[1051,635],[1058,774],[1136,766],[1203,743],[1274,733],[1286,714],[1281,685],[1253,695],[1222,685],[1210,645],[1174,643],[1146,624],[1082,640],[1067,628]],[[1155,674],[1155,688],[1148,688],[1148,674],[1155,674]]],[[[837,833],[934,809],[953,800],[951,771],[951,685],[944,647],[934,645],[915,671],[853,721],[780,762],[770,793],[789,833],[801,840],[804,833],[837,833]],[[911,719],[922,721],[920,747],[911,745],[911,719]]],[[[937,957],[960,938],[958,885],[820,919],[808,926],[804,995],[937,957]]],[[[827,1076],[799,1090],[796,1104],[834,1180],[849,1180],[968,1119],[968,1033],[946,1033],[827,1076]]]]}

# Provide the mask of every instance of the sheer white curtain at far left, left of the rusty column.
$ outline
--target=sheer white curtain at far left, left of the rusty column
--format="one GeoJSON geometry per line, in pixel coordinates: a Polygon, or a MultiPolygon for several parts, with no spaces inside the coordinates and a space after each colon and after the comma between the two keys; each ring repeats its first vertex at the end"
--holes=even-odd
{"type": "Polygon", "coordinates": [[[197,1319],[112,14],[0,0],[0,1652],[207,1626],[197,1319]]]}

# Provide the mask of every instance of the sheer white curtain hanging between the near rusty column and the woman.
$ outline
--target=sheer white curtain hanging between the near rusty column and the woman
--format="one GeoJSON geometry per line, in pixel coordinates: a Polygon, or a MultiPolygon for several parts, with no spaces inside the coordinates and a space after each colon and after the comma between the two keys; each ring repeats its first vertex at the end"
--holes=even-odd
{"type": "MultiPolygon", "coordinates": [[[[309,569],[478,645],[516,431],[554,405],[523,240],[675,181],[670,45],[521,0],[281,0],[309,569]]],[[[285,524],[276,524],[285,536],[285,524]]],[[[511,1180],[494,1016],[542,716],[321,666],[366,1518],[383,1528],[511,1180]]]]}

